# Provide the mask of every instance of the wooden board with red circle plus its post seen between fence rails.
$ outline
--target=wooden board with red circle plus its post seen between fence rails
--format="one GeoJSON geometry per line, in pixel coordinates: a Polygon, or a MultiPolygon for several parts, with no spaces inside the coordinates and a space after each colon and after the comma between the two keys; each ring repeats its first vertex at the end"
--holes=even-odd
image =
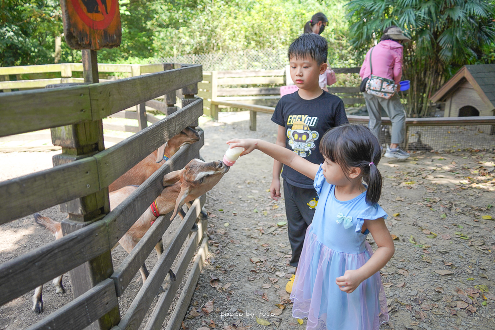
{"type": "MultiPolygon", "coordinates": [[[[84,82],[99,82],[97,50],[118,47],[122,39],[118,0],[61,0],[64,34],[67,45],[82,49],[84,82]]],[[[62,153],[53,156],[53,165],[61,165],[89,157],[105,149],[103,122],[95,120],[51,129],[53,144],[62,146],[62,153]]],[[[108,188],[88,196],[60,204],[60,211],[69,217],[62,221],[67,235],[102,219],[110,212],[108,188]]],[[[90,290],[113,274],[110,251],[69,272],[74,298],[90,290]]],[[[109,330],[120,322],[116,306],[87,329],[109,330]]]]}

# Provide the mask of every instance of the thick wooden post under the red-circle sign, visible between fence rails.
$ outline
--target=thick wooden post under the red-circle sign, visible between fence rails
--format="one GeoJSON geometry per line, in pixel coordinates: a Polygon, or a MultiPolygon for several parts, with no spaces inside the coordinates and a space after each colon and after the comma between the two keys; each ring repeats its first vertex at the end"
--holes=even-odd
{"type": "MultiPolygon", "coordinates": [[[[83,50],[82,57],[85,82],[98,83],[96,50],[83,50]]],[[[53,156],[54,166],[92,156],[104,150],[101,120],[53,128],[51,137],[53,144],[62,146],[62,153],[53,156]]],[[[86,227],[110,212],[108,188],[60,204],[60,211],[69,213],[68,219],[62,221],[64,235],[86,227]]],[[[113,274],[110,251],[103,252],[98,257],[76,267],[69,274],[72,292],[76,298],[113,274]]],[[[87,329],[108,330],[119,322],[120,312],[119,307],[116,306],[87,329]]]]}

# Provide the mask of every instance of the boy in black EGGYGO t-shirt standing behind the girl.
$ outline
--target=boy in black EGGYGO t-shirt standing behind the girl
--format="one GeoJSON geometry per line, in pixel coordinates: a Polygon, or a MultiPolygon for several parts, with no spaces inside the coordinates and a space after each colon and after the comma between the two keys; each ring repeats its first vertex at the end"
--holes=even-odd
{"type": "MultiPolygon", "coordinates": [[[[272,121],[278,127],[277,144],[293,150],[314,164],[323,163],[320,138],[332,127],[347,124],[344,102],[335,95],[322,91],[318,78],[327,69],[328,46],[317,34],[303,34],[289,47],[291,78],[299,90],[282,96],[277,103],[272,121]]],[[[274,160],[270,195],[278,200],[282,163],[274,160]]],[[[290,264],[297,269],[307,227],[311,224],[318,203],[313,181],[289,166],[284,166],[284,197],[289,241],[292,247],[290,264]]],[[[292,291],[295,275],[286,285],[292,291]]]]}

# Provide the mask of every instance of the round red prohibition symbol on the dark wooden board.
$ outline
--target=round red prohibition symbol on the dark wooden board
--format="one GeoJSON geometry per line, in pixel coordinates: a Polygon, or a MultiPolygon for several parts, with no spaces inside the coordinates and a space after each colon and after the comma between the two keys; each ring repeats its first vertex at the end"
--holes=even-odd
{"type": "Polygon", "coordinates": [[[117,9],[118,0],[70,0],[77,16],[94,30],[106,29],[117,9]]]}

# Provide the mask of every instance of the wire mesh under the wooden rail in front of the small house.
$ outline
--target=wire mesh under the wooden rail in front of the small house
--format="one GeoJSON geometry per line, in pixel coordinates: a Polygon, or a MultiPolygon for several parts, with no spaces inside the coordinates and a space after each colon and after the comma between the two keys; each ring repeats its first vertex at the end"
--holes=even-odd
{"type": "MultiPolygon", "coordinates": [[[[382,125],[381,143],[391,142],[391,126],[382,125]]],[[[495,125],[410,126],[409,151],[495,150],[495,125]]]]}

